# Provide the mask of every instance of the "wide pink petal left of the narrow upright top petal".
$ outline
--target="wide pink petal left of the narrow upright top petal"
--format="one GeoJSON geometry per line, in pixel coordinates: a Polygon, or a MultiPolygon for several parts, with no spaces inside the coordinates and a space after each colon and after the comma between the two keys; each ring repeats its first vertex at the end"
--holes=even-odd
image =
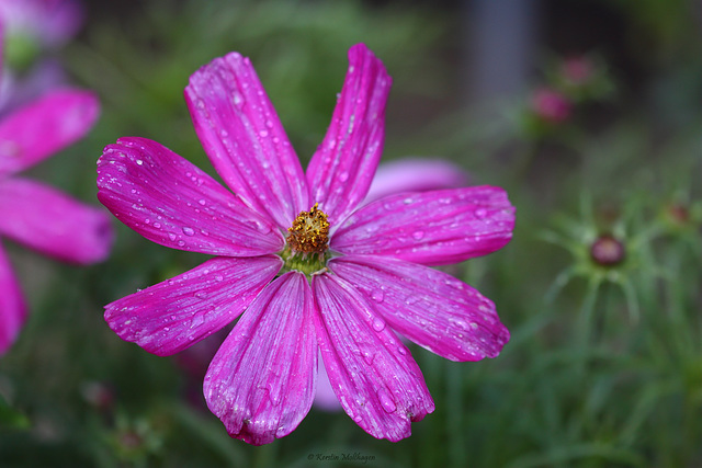
{"type": "Polygon", "coordinates": [[[281,229],[309,208],[302,167],[248,57],[231,53],[192,77],[185,101],[195,132],[231,190],[281,229]]]}

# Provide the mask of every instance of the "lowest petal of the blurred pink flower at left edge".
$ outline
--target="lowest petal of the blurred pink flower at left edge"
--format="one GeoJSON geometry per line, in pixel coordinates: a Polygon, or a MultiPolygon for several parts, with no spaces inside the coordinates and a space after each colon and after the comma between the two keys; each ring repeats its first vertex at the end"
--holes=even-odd
{"type": "Polygon", "coordinates": [[[0,355],[4,354],[20,334],[26,320],[26,304],[4,249],[0,246],[0,355]]]}

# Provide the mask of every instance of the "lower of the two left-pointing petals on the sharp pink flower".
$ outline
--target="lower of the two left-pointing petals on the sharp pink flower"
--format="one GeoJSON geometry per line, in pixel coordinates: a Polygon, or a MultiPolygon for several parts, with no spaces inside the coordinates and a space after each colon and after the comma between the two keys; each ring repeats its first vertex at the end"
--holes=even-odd
{"type": "Polygon", "coordinates": [[[178,353],[233,322],[282,266],[276,255],[219,256],[105,306],[117,335],[149,353],[178,353]]]}

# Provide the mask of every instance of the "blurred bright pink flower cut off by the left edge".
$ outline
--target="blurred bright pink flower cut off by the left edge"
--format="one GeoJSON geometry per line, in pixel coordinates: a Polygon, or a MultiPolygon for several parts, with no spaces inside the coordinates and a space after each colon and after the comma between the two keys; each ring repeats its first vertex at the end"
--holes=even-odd
{"type": "MultiPolygon", "coordinates": [[[[110,252],[109,215],[15,175],[81,138],[99,112],[88,91],[58,90],[0,121],[0,236],[56,259],[90,264],[110,252]]],[[[26,304],[0,246],[0,354],[15,341],[26,304]]]]}

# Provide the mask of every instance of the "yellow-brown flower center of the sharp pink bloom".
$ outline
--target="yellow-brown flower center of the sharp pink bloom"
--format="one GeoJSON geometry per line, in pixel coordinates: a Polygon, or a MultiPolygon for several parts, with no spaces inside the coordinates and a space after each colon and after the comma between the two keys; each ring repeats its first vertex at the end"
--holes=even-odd
{"type": "Polygon", "coordinates": [[[287,246],[281,252],[284,271],[295,270],[309,277],[325,269],[329,259],[329,221],[318,206],[315,203],[309,212],[301,212],[287,228],[287,246]]]}

